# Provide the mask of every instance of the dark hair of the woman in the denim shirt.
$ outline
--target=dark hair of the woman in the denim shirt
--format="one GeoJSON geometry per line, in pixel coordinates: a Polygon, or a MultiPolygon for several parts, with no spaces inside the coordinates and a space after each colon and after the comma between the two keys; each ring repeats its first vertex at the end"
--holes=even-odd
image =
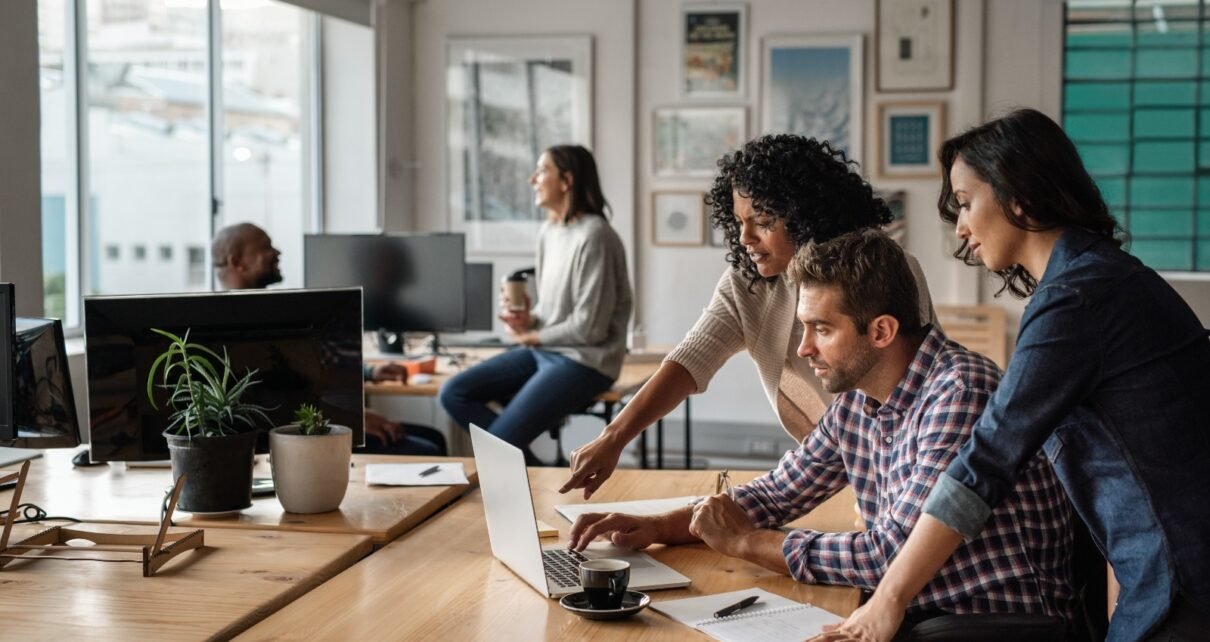
{"type": "MultiPolygon", "coordinates": [[[[941,196],[937,208],[941,220],[955,225],[958,206],[950,169],[962,158],[979,179],[991,186],[996,203],[1010,224],[1030,232],[1056,227],[1082,227],[1118,245],[1125,232],[1110,214],[1096,183],[1088,175],[1076,145],[1045,114],[1019,109],[958,134],[941,145],[941,196]],[[1015,216],[1013,207],[1027,216],[1015,216]]],[[[953,256],[972,266],[981,265],[966,242],[953,256]]],[[[996,272],[1013,296],[1033,294],[1037,280],[1020,265],[996,272]]],[[[1041,274],[1038,274],[1041,276],[1041,274]]]]}

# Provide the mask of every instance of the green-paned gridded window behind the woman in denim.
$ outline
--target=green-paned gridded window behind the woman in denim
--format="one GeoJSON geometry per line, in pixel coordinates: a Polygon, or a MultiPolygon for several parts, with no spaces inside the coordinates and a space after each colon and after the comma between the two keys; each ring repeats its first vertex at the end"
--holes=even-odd
{"type": "Polygon", "coordinates": [[[1064,128],[1130,251],[1210,271],[1210,46],[1204,0],[1067,4],[1064,128]]]}

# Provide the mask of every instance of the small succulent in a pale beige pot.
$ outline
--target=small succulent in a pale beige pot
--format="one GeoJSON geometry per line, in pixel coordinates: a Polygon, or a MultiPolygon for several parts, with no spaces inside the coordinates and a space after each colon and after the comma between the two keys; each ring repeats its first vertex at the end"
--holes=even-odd
{"type": "Polygon", "coordinates": [[[269,433],[273,488],[287,513],[327,513],[340,508],[348,488],[353,432],[333,426],[323,411],[302,404],[294,423],[269,433]]]}

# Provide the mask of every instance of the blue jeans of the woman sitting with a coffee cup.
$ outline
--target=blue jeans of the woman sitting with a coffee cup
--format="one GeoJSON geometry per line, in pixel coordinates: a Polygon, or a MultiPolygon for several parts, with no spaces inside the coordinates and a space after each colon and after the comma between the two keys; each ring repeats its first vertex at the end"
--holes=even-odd
{"type": "Polygon", "coordinates": [[[514,348],[455,375],[442,386],[440,400],[463,429],[473,423],[528,453],[534,438],[583,410],[612,384],[561,354],[514,348]],[[489,401],[507,405],[497,415],[489,401]]]}

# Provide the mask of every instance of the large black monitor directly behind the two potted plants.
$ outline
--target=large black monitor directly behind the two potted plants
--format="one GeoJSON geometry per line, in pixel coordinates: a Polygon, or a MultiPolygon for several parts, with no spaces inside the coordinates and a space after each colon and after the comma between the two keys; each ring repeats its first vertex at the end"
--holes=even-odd
{"type": "MultiPolygon", "coordinates": [[[[364,444],[357,289],[93,296],[83,312],[94,462],[168,458],[162,433],[172,409],[162,398],[155,409],[146,397],[148,370],[168,341],[151,328],[226,349],[241,375],[257,370],[260,383],[243,400],[269,409],[266,430],[290,423],[306,403],[364,444]]],[[[267,444],[263,433],[258,450],[267,444]]]]}

